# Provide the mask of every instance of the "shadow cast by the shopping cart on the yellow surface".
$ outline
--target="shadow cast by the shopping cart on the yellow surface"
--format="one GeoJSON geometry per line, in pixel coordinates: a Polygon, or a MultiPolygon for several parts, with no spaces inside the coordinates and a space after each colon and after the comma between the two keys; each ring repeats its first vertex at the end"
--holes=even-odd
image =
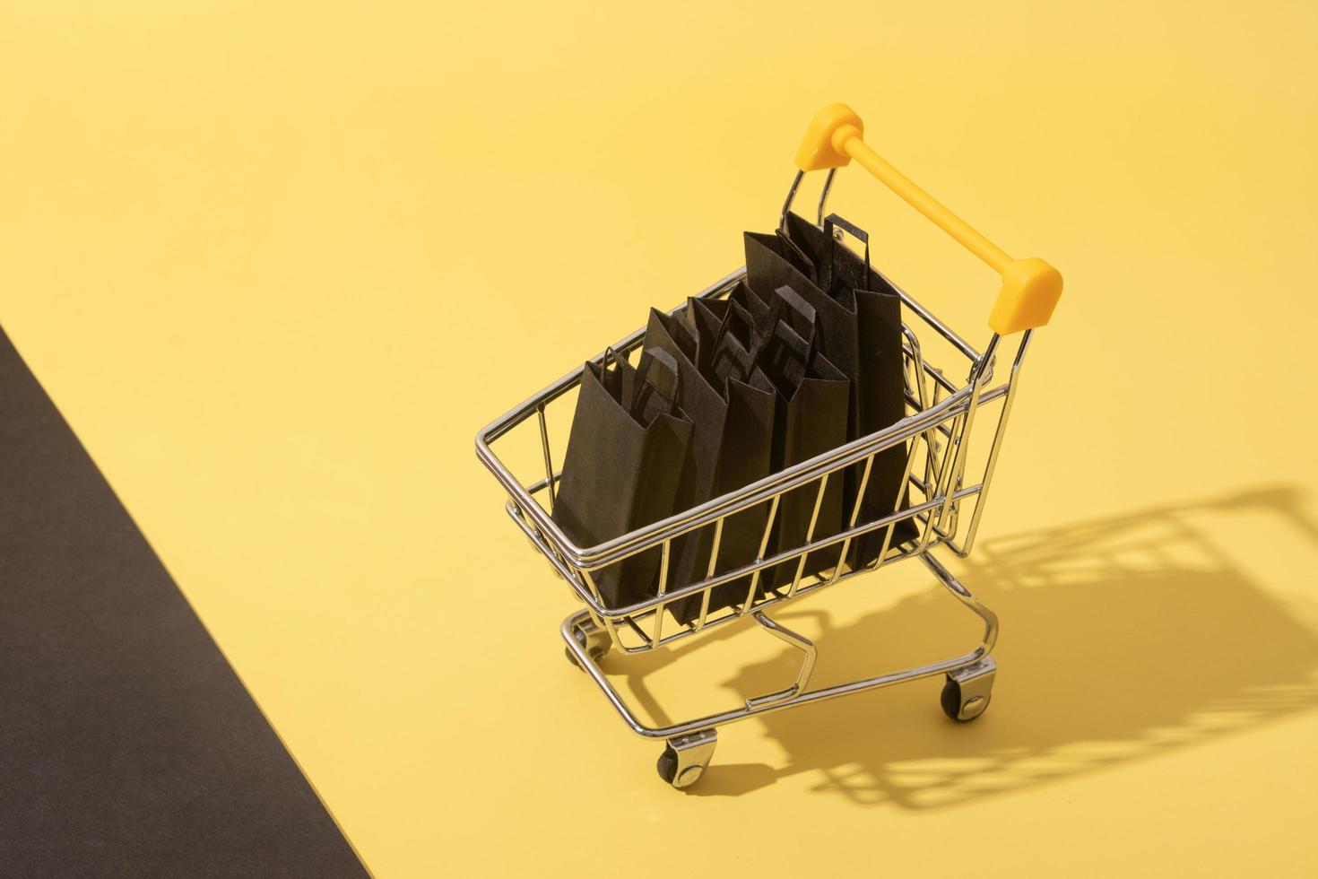
{"type": "MultiPolygon", "coordinates": [[[[1302,501],[1294,489],[1264,489],[982,540],[960,576],[1003,619],[1000,672],[983,717],[944,717],[941,676],[768,714],[737,734],[755,734],[759,723],[786,762],[725,764],[716,754],[691,793],[745,795],[805,774],[818,779],[812,791],[857,804],[942,808],[1318,708],[1313,593],[1275,594],[1278,584],[1261,584],[1242,561],[1268,546],[1220,527],[1238,514],[1280,517],[1306,552],[1318,551],[1302,501]]],[[[1293,576],[1311,577],[1311,567],[1293,576]]],[[[855,586],[866,580],[882,577],[855,586]]],[[[815,618],[812,685],[956,655],[977,629],[949,629],[965,614],[932,588],[845,626],[832,623],[826,598],[811,605],[775,617],[788,626],[815,618]],[[929,655],[929,644],[949,648],[929,655]]],[[[755,696],[789,681],[797,664],[799,654],[784,650],[722,683],[755,696]]],[[[638,672],[630,689],[658,710],[647,672],[638,672]]]]}

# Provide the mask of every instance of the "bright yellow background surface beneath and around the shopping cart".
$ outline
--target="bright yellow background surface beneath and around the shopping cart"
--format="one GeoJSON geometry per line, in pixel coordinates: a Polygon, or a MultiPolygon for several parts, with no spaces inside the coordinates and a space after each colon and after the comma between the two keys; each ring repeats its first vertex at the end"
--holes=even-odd
{"type": "MultiPolygon", "coordinates": [[[[380,876],[1314,875],[1315,38],[1307,3],[5,3],[0,320],[380,876]],[[1068,279],[956,568],[998,687],[728,727],[684,795],[563,662],[472,438],[738,265],[832,100],[1068,279]]],[[[836,191],[987,336],[983,266],[836,191]]],[[[825,679],[974,635],[915,565],[833,592],[783,614],[825,679]]],[[[735,704],[768,640],[627,680],[735,704]]]]}

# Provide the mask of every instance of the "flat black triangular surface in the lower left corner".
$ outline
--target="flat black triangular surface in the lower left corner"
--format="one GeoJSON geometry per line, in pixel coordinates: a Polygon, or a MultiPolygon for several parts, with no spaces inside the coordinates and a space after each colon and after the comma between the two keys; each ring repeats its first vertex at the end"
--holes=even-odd
{"type": "Polygon", "coordinates": [[[0,332],[0,876],[364,876],[0,332]]]}

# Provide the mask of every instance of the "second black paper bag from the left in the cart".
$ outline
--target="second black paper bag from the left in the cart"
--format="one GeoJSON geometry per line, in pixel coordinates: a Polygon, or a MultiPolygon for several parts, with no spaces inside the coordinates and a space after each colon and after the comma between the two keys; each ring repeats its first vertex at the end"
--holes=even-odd
{"type": "MultiPolygon", "coordinates": [[[[645,349],[670,354],[680,376],[677,405],[695,432],[691,460],[677,490],[677,507],[689,509],[770,474],[774,406],[768,380],[754,370],[749,318],[729,303],[688,302],[680,316],[651,310],[645,349]]],[[[757,505],[724,523],[714,573],[755,560],[764,534],[767,507],[757,505]]],[[[670,590],[706,579],[713,526],[673,540],[670,590]]],[[[710,594],[709,609],[745,601],[749,579],[726,582],[710,594]]],[[[673,602],[679,622],[700,615],[696,594],[673,602]]]]}

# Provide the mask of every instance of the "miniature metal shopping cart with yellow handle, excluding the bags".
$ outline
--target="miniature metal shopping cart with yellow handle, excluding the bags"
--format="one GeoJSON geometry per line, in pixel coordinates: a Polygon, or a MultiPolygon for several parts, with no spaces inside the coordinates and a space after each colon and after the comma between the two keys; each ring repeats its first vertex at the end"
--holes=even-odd
{"type": "MultiPolygon", "coordinates": [[[[666,739],[667,747],[659,758],[659,774],[677,788],[693,784],[709,766],[717,741],[716,727],[747,717],[937,675],[944,675],[946,679],[942,688],[942,709],[953,720],[974,720],[988,706],[996,671],[990,652],[998,635],[998,618],[938,561],[933,550],[945,547],[965,557],[974,544],[994,468],[1002,451],[1007,416],[1016,395],[1020,366],[1033,329],[1046,324],[1052,315],[1061,295],[1062,279],[1057,270],[1043,260],[1014,260],[1007,256],[871,150],[862,140],[862,130],[859,117],[842,104],[829,105],[815,117],[796,156],[800,170],[783,206],[783,219],[805,173],[828,170],[818,206],[822,225],[824,204],[833,177],[837,169],[846,166],[854,158],[1002,275],[1002,290],[988,319],[992,335],[983,349],[973,347],[915,298],[898,290],[903,303],[905,385],[905,416],[902,420],[743,489],[593,547],[573,546],[552,519],[555,486],[560,473],[554,469],[551,449],[561,448],[567,430],[555,431],[556,435],[551,436],[550,426],[561,419],[551,418],[548,412],[558,415],[559,407],[571,407],[571,402],[563,402],[563,398],[580,383],[583,369],[573,370],[513,409],[481,431],[476,439],[478,457],[509,494],[506,505],[509,515],[585,605],[561,626],[568,659],[594,680],[634,733],[645,738],[666,739]],[[1002,351],[1003,340],[1008,336],[1016,339],[1014,354],[1002,351]],[[1011,370],[1004,381],[995,383],[994,372],[999,354],[1012,357],[1011,370]],[[942,360],[944,357],[949,360],[942,360]],[[954,377],[958,374],[965,374],[965,381],[957,381],[954,377]],[[556,402],[559,407],[555,407],[556,402]],[[981,414],[982,409],[990,406],[992,410],[981,414]],[[971,455],[971,428],[994,415],[996,426],[991,441],[987,448],[971,455]],[[534,444],[534,431],[539,432],[538,457],[543,459],[543,470],[540,461],[536,461],[534,476],[525,478],[514,476],[506,460],[494,452],[494,447],[514,432],[529,435],[527,440],[534,444]],[[875,456],[894,447],[905,449],[903,474],[903,484],[908,486],[905,501],[899,497],[890,514],[862,517],[859,498],[865,496],[875,456]],[[971,460],[974,465],[970,464],[971,460]],[[850,474],[859,480],[859,493],[854,507],[844,511],[849,513],[849,518],[841,531],[816,539],[812,519],[804,543],[778,547],[774,553],[766,555],[779,501],[784,494],[805,489],[817,492],[815,497],[820,498],[829,480],[851,477],[850,474]],[[758,559],[716,575],[724,523],[730,517],[758,505],[763,505],[767,510],[758,559]],[[911,528],[903,528],[899,539],[894,540],[895,526],[904,521],[915,526],[916,536],[903,536],[912,532],[911,528]],[[712,536],[708,576],[697,582],[675,588],[668,576],[673,540],[697,530],[705,530],[712,536]],[[853,542],[869,534],[884,535],[883,550],[870,564],[853,569],[845,561],[847,550],[853,542]],[[841,550],[837,557],[841,560],[836,565],[803,575],[807,553],[838,544],[841,550]],[[596,572],[637,553],[655,551],[660,556],[655,594],[627,606],[608,606],[596,588],[596,572]],[[979,615],[985,623],[979,644],[967,654],[944,662],[811,689],[811,672],[816,659],[815,644],[774,622],[767,611],[775,605],[825,589],[866,571],[912,557],[919,557],[961,604],[979,615]],[[764,588],[762,573],[770,568],[779,569],[784,563],[796,563],[795,579],[789,584],[764,588]],[[743,600],[731,606],[710,609],[710,593],[716,588],[738,580],[746,582],[747,579],[750,588],[743,600]],[[693,596],[699,596],[700,613],[689,622],[679,622],[666,610],[672,604],[693,596]],[[638,720],[600,667],[610,651],[626,655],[667,647],[745,617],[799,650],[801,666],[789,687],[747,698],[743,705],[722,713],[667,726],[647,726],[638,720]]],[[[726,297],[743,275],[745,269],[738,270],[699,297],[726,297]]],[[[610,348],[618,356],[626,356],[638,351],[641,340],[642,331],[637,331],[610,348]]],[[[594,361],[601,362],[602,358],[604,353],[596,356],[594,361]]],[[[817,501],[815,514],[816,517],[818,514],[817,501]]],[[[764,575],[763,579],[767,581],[768,576],[764,575]]]]}

